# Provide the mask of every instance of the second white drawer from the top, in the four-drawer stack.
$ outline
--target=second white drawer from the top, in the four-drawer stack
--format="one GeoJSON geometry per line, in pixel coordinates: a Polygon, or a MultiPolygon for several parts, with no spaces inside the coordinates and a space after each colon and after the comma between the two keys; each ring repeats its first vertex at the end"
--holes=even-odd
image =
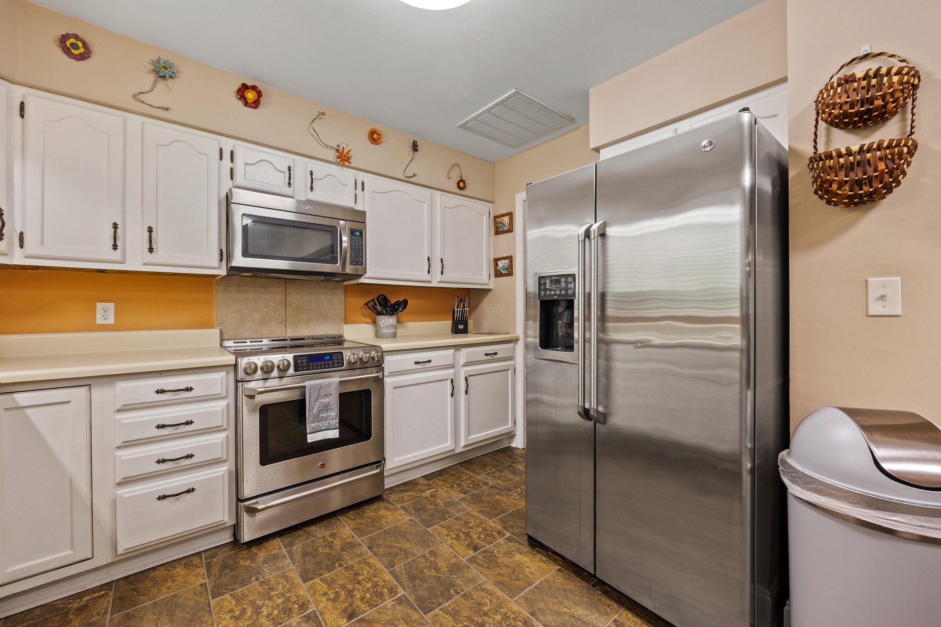
{"type": "Polygon", "coordinates": [[[120,412],[115,416],[115,446],[224,429],[228,424],[228,400],[120,412]]]}

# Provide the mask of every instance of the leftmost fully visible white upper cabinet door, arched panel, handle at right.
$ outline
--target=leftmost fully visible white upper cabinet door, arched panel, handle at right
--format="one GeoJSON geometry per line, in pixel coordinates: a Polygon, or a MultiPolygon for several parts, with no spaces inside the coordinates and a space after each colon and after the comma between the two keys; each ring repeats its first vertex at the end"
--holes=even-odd
{"type": "Polygon", "coordinates": [[[124,118],[26,94],[24,256],[124,259],[124,118]]]}

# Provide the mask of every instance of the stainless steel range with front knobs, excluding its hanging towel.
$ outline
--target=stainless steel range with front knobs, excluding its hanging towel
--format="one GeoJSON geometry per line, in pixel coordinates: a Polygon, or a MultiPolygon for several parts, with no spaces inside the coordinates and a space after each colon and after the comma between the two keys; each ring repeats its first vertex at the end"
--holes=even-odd
{"type": "Polygon", "coordinates": [[[382,349],[343,336],[230,339],[248,541],[383,491],[382,349]],[[340,380],[339,437],[307,441],[307,382],[340,380]]]}

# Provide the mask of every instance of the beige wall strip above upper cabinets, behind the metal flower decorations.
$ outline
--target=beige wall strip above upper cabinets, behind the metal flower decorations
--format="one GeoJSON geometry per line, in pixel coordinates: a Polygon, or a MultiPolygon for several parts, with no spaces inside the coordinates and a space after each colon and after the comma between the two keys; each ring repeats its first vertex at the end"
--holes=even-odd
{"type": "MultiPolygon", "coordinates": [[[[263,84],[259,85],[262,106],[248,109],[235,99],[235,89],[242,82],[257,81],[24,0],[0,0],[0,42],[0,77],[14,83],[331,161],[332,152],[318,146],[308,131],[317,111],[326,111],[327,118],[317,122],[324,140],[328,144],[349,143],[353,149],[352,167],[375,174],[401,179],[408,148],[415,138],[263,84]],[[92,49],[91,57],[76,62],[63,55],[58,37],[65,32],[85,38],[92,49]],[[145,65],[157,55],[169,58],[180,70],[169,84],[170,91],[166,86],[157,86],[145,97],[149,102],[171,107],[167,112],[131,98],[134,92],[151,85],[153,73],[145,65]],[[372,126],[378,126],[384,135],[381,146],[372,146],[366,139],[372,126]]],[[[455,180],[447,179],[448,168],[457,162],[468,181],[466,196],[493,199],[491,162],[417,139],[420,150],[409,171],[419,176],[412,182],[460,194],[455,180]]]]}

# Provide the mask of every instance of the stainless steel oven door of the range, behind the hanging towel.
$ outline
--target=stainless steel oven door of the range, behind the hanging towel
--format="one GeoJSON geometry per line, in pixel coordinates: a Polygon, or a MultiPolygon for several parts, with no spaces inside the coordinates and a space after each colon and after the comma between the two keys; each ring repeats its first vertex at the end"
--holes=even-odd
{"type": "Polygon", "coordinates": [[[382,368],[239,384],[239,498],[379,462],[384,451],[382,368]],[[305,384],[340,379],[340,436],[307,441],[305,384]]]}

